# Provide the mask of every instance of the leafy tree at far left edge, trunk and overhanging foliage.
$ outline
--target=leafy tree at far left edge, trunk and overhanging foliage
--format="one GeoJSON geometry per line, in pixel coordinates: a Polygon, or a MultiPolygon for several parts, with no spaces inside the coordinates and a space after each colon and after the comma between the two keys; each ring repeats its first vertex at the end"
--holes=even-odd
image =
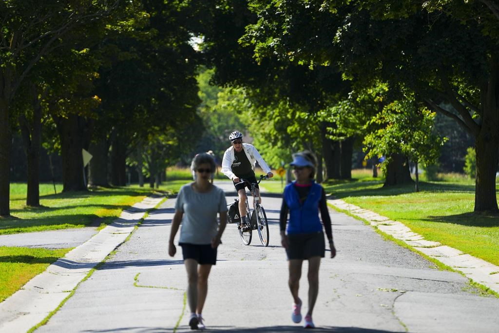
{"type": "Polygon", "coordinates": [[[108,15],[117,0],[0,2],[0,216],[9,216],[10,104],[33,66],[77,25],[108,15]]]}

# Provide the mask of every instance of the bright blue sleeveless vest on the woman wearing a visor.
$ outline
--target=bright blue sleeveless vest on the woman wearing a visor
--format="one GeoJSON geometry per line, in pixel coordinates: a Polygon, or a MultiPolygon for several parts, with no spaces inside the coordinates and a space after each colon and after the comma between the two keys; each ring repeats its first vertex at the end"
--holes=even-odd
{"type": "Polygon", "coordinates": [[[322,186],[312,182],[307,199],[300,204],[298,192],[293,181],[284,188],[284,200],[289,207],[288,234],[306,234],[322,231],[319,219],[319,202],[322,195],[322,186]]]}

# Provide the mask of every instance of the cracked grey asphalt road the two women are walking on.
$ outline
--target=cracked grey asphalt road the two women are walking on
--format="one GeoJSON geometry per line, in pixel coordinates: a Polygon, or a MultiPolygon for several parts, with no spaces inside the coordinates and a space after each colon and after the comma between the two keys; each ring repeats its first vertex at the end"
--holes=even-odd
{"type": "MultiPolygon", "coordinates": [[[[232,184],[217,183],[232,191],[232,184]]],[[[233,201],[235,193],[228,193],[233,201]]],[[[250,246],[228,225],[209,280],[207,331],[300,332],[291,322],[287,263],[279,242],[281,199],[264,196],[270,244],[250,246]]],[[[188,332],[181,249],[168,256],[175,199],[152,212],[116,253],[36,332],[188,332]]],[[[330,211],[337,257],[321,262],[316,332],[499,332],[499,300],[439,271],[370,226],[330,211]]],[[[177,236],[178,238],[178,236],[177,236]]],[[[306,264],[300,297],[306,304],[306,264]]],[[[306,307],[304,307],[306,311],[306,307]]]]}

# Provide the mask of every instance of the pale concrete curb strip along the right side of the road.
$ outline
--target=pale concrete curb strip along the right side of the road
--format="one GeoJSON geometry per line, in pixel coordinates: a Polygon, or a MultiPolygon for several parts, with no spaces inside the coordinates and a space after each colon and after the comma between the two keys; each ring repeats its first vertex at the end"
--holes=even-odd
{"type": "Polygon", "coordinates": [[[464,254],[457,249],[438,242],[427,241],[423,236],[414,233],[400,222],[392,221],[387,217],[348,204],[341,199],[329,199],[327,202],[334,207],[348,211],[350,214],[368,221],[385,234],[403,241],[428,257],[464,273],[469,279],[499,293],[499,266],[464,254]]]}

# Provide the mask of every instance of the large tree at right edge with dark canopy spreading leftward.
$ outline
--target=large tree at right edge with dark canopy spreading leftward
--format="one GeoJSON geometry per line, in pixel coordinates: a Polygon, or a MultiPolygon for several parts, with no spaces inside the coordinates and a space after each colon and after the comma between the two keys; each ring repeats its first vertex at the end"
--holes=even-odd
{"type": "Polygon", "coordinates": [[[250,1],[258,22],[245,40],[260,58],[277,54],[339,65],[344,78],[419,100],[476,139],[475,211],[498,211],[499,43],[491,1],[250,1]],[[430,6],[429,6],[430,4],[430,6]],[[491,4],[490,6],[488,4],[491,4]],[[441,102],[457,113],[446,112],[441,102]],[[480,170],[478,170],[480,169],[480,170]]]}

